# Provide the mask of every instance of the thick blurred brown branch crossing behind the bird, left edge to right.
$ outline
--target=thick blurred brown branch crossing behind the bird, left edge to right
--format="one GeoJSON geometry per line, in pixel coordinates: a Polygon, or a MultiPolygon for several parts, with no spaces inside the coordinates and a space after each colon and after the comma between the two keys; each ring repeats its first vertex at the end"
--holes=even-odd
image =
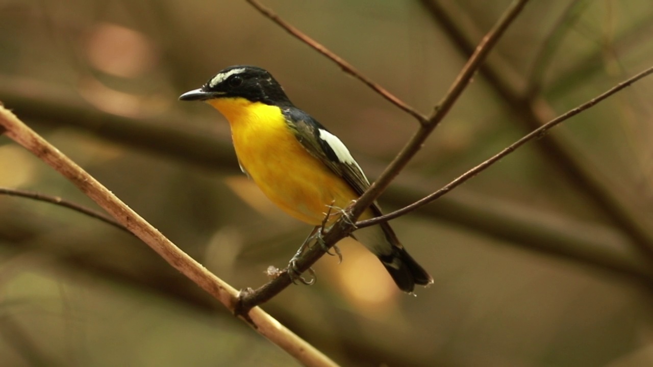
{"type": "MultiPolygon", "coordinates": [[[[125,144],[129,148],[148,150],[219,172],[240,172],[235,168],[238,165],[231,141],[217,139],[214,135],[199,134],[193,129],[170,129],[167,126],[172,124],[172,121],[161,118],[156,121],[144,121],[140,118],[106,114],[82,103],[76,99],[76,95],[67,95],[62,88],[53,88],[46,83],[15,76],[0,76],[0,95],[3,96],[5,104],[12,106],[16,113],[28,121],[35,120],[57,127],[69,126],[91,133],[99,139],[125,144]],[[31,108],[35,104],[40,108],[31,108]]],[[[174,120],[174,116],[170,119],[174,120]]],[[[181,119],[188,120],[189,117],[181,119]]],[[[371,172],[381,172],[385,167],[377,161],[360,159],[359,155],[358,162],[371,172]]],[[[426,185],[416,183],[423,180],[408,177],[404,174],[394,180],[383,200],[400,208],[406,202],[415,202],[432,192],[426,185]]],[[[498,238],[527,251],[537,251],[556,259],[573,261],[575,264],[590,265],[596,270],[608,271],[610,274],[634,274],[635,278],[648,279],[647,273],[636,265],[639,257],[631,254],[626,238],[619,236],[616,230],[592,223],[592,231],[587,231],[583,227],[587,224],[577,223],[560,215],[556,217],[562,223],[574,223],[571,228],[552,225],[549,220],[533,213],[511,214],[511,210],[486,205],[489,200],[487,197],[464,199],[469,195],[460,193],[441,197],[437,206],[422,207],[417,215],[462,225],[471,231],[498,238]]],[[[269,239],[266,241],[269,242],[269,239]]],[[[89,264],[91,261],[87,258],[82,263],[89,264]]],[[[148,285],[152,285],[153,281],[147,280],[150,281],[148,285]]]]}

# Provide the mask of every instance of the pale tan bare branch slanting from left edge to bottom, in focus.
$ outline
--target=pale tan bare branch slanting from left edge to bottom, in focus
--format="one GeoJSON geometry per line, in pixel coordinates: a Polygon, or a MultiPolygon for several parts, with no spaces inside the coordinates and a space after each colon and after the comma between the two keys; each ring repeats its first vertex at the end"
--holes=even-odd
{"type": "MultiPolygon", "coordinates": [[[[154,251],[159,253],[171,266],[194,281],[204,291],[214,296],[229,310],[234,311],[238,291],[228,283],[206,270],[202,264],[195,261],[175,246],[161,232],[152,227],[143,217],[134,212],[116,195],[106,189],[93,176],[76,165],[71,159],[59,152],[57,148],[44,138],[29,129],[7,108],[0,107],[0,126],[5,127],[5,134],[39,157],[76,185],[89,198],[97,202],[106,212],[116,218],[154,251]]],[[[296,336],[279,321],[272,318],[261,308],[251,308],[248,313],[240,313],[240,318],[259,334],[276,343],[289,355],[300,360],[306,366],[337,366],[323,353],[309,343],[296,336]]]]}

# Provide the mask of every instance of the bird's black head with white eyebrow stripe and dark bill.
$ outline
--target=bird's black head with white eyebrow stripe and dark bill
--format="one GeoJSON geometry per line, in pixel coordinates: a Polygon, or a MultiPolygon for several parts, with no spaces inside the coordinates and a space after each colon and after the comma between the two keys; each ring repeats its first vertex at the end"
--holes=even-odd
{"type": "Polygon", "coordinates": [[[182,101],[206,101],[215,98],[241,97],[252,102],[275,106],[291,104],[281,85],[265,69],[235,65],[218,72],[202,86],[183,93],[182,101]]]}

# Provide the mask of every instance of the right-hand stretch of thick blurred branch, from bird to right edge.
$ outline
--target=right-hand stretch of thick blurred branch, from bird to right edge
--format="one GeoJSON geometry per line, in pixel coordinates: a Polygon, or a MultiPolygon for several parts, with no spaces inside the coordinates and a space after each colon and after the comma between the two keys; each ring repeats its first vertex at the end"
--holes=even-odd
{"type": "MultiPolygon", "coordinates": [[[[424,183],[396,183],[388,188],[391,195],[384,195],[395,206],[426,196],[421,194],[424,183]]],[[[457,187],[452,194],[440,197],[437,204],[422,206],[413,215],[429,215],[454,225],[464,223],[471,231],[496,238],[498,243],[518,251],[539,253],[653,289],[653,269],[632,251],[628,238],[612,227],[466,192],[463,187],[457,187]]]]}

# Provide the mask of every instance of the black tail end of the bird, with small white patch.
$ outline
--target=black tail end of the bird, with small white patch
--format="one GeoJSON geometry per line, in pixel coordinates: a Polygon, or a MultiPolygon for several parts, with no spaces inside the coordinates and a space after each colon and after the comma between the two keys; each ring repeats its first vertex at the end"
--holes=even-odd
{"type": "Polygon", "coordinates": [[[429,285],[433,278],[420,266],[404,247],[392,246],[392,253],[379,256],[379,260],[388,270],[397,286],[404,292],[411,293],[415,284],[429,285]]]}

